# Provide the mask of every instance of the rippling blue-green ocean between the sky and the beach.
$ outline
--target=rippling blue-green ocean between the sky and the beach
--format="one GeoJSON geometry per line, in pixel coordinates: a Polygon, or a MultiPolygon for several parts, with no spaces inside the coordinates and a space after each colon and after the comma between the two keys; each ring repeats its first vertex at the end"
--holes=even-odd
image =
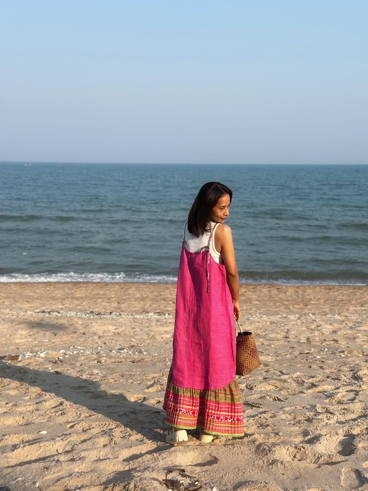
{"type": "Polygon", "coordinates": [[[368,285],[368,165],[0,164],[0,281],[175,282],[200,187],[241,282],[368,285]]]}

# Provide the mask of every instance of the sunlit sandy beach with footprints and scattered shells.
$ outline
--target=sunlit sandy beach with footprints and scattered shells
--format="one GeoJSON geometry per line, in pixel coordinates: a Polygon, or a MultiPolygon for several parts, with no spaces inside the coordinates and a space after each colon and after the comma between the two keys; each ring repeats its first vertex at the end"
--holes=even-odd
{"type": "Polygon", "coordinates": [[[368,490],[368,289],[241,285],[262,366],[237,378],[245,436],[211,444],[164,439],[175,296],[175,284],[1,284],[0,486],[368,490]]]}

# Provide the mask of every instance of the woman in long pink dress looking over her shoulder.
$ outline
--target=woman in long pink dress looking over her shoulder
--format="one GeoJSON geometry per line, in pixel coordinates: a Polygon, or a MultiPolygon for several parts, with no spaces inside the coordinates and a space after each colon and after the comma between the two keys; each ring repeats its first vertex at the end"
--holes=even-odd
{"type": "Polygon", "coordinates": [[[229,216],[232,191],[221,183],[202,186],[184,226],[176,297],[173,362],[163,409],[166,441],[243,436],[244,415],[235,379],[235,322],[239,277],[229,216]]]}

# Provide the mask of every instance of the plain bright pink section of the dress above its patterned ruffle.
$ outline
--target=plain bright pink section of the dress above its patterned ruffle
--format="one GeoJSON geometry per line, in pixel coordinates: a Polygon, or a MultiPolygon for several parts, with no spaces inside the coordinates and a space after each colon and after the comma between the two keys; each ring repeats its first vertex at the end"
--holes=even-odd
{"type": "Polygon", "coordinates": [[[176,294],[173,383],[218,389],[235,378],[234,308],[225,266],[210,255],[209,244],[189,252],[183,240],[176,294]]]}

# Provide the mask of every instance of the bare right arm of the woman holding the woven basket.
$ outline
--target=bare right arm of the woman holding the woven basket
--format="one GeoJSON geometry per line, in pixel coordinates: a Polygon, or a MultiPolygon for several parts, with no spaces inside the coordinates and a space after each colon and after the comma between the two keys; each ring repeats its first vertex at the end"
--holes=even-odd
{"type": "Polygon", "coordinates": [[[235,252],[233,246],[233,237],[231,228],[228,225],[218,225],[216,227],[214,246],[216,250],[221,252],[224,260],[226,278],[230,287],[231,296],[234,305],[234,314],[237,321],[240,319],[239,307],[239,275],[237,273],[237,263],[235,260],[235,252]]]}

